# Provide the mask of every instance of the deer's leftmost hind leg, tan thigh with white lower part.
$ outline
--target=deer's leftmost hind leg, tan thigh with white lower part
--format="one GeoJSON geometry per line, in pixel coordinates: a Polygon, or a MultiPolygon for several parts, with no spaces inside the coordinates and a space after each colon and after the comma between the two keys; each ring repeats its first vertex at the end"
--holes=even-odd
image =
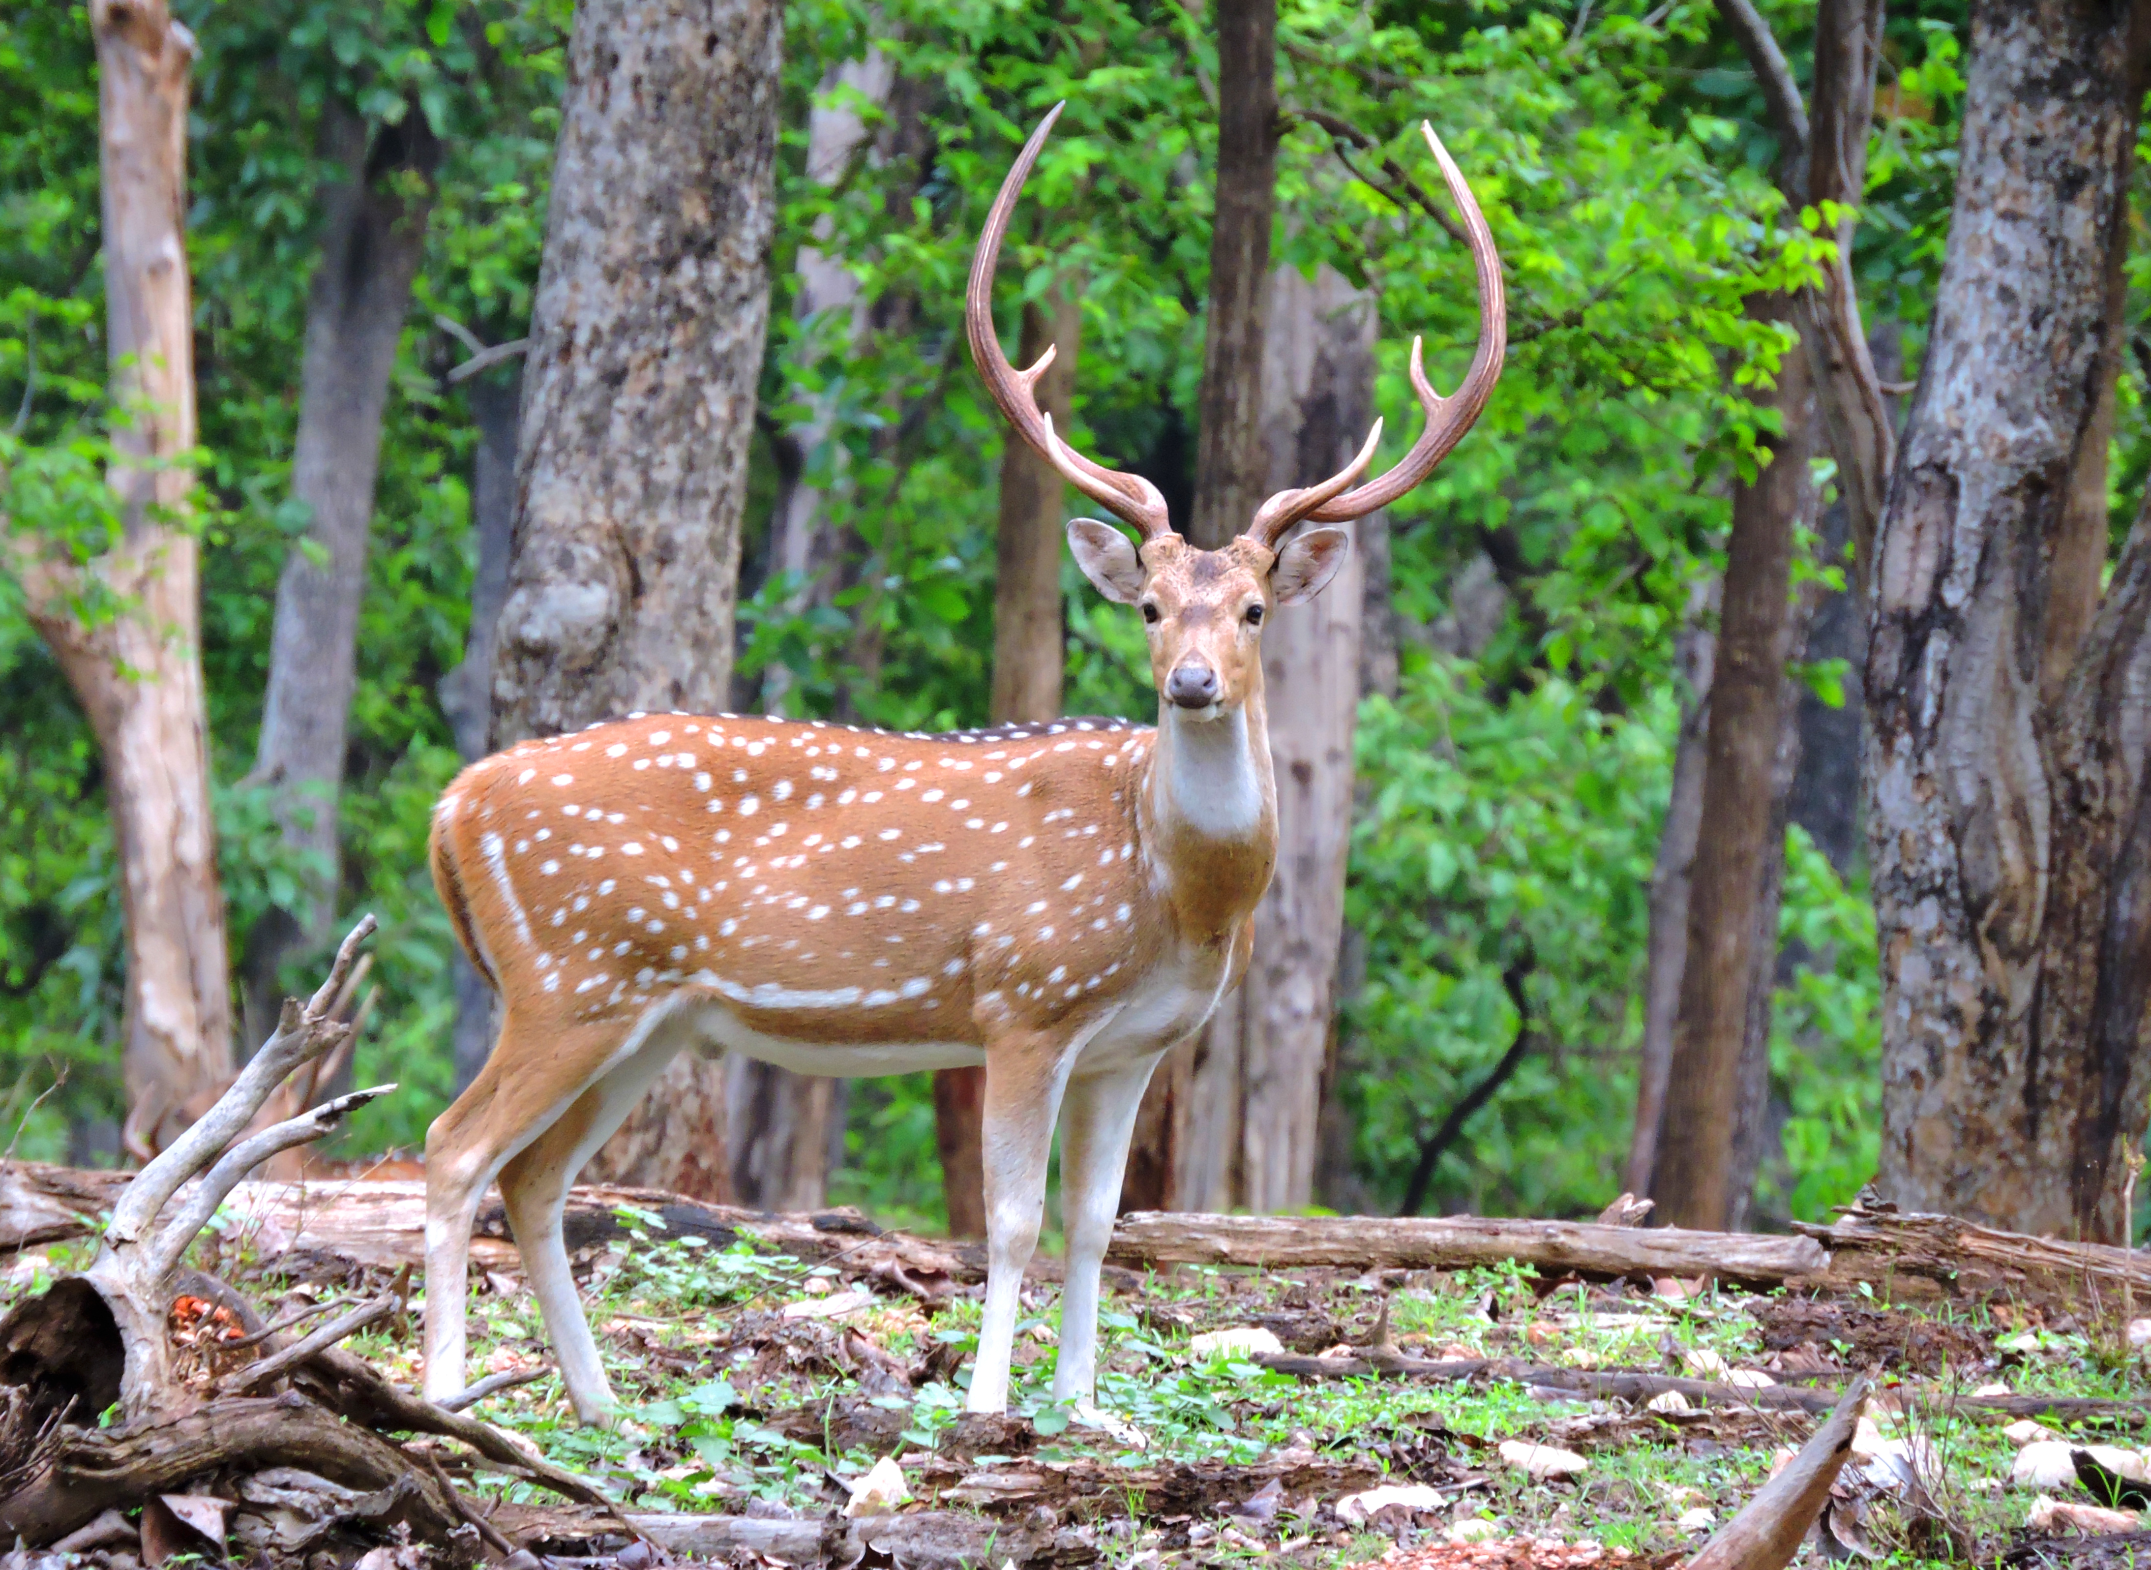
{"type": "Polygon", "coordinates": [[[471,1086],[426,1129],[426,1400],[462,1394],[471,1226],[486,1185],[602,1071],[624,1026],[544,1032],[501,1022],[501,1039],[471,1086]],[[566,1084],[546,1069],[587,1062],[566,1084]]]}

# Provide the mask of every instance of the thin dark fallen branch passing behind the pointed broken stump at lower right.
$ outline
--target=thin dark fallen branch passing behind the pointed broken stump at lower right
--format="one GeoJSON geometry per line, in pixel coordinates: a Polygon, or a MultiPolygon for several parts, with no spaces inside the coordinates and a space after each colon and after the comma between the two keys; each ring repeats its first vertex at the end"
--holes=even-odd
{"type": "MultiPolygon", "coordinates": [[[[1820,1415],[1833,1411],[1839,1391],[1811,1385],[1729,1385],[1716,1379],[1684,1379],[1654,1374],[1643,1368],[1559,1368],[1529,1364],[1521,1357],[1405,1357],[1362,1348],[1357,1357],[1304,1357],[1297,1353],[1254,1353],[1250,1364],[1297,1379],[1433,1379],[1465,1383],[1473,1379],[1506,1379],[1536,1389],[1583,1396],[1590,1400],[1650,1400],[1667,1391],[1686,1400],[1719,1407],[1755,1407],[1762,1411],[1800,1411],[1820,1415]]],[[[2112,1400],[2102,1396],[1955,1396],[1947,1391],[1895,1389],[1891,1398],[1925,1411],[1979,1417],[2050,1417],[2054,1422],[2151,1422],[2151,1400],[2112,1400]]]]}

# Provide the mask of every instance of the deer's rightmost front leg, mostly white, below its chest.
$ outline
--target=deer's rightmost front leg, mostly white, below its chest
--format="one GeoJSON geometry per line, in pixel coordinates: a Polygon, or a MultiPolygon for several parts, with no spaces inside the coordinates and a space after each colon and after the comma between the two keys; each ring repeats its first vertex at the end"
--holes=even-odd
{"type": "Polygon", "coordinates": [[[1060,1219],[1069,1256],[1054,1400],[1088,1400],[1097,1383],[1097,1275],[1121,1213],[1136,1112],[1155,1067],[1157,1058],[1144,1058],[1069,1082],[1060,1116],[1060,1219]]]}

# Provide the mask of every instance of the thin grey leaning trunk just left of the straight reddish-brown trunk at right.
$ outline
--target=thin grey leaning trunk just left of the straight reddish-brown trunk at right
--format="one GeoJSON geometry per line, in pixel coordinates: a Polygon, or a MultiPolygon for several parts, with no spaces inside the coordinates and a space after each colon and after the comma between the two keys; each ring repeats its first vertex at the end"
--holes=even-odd
{"type": "Polygon", "coordinates": [[[1710,736],[1710,671],[1719,639],[1716,583],[1697,585],[1689,624],[1673,645],[1673,667],[1689,697],[1673,742],[1673,789],[1658,830],[1658,858],[1650,873],[1650,938],[1643,959],[1643,1043],[1637,1058],[1635,1129],[1622,1189],[1650,1194],[1658,1168],[1658,1129],[1665,1125],[1665,1088],[1673,1075],[1673,1017],[1680,1013],[1680,974],[1689,959],[1689,880],[1695,841],[1704,828],[1704,748],[1710,736]]]}

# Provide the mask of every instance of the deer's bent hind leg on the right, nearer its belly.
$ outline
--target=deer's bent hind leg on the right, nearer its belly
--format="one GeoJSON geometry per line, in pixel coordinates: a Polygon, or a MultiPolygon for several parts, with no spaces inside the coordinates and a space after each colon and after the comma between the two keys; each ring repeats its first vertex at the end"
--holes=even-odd
{"type": "Polygon", "coordinates": [[[583,1299],[574,1290],[574,1271],[568,1265],[568,1241],[561,1234],[568,1185],[598,1153],[598,1146],[613,1138],[613,1131],[643,1099],[650,1082],[671,1062],[678,1047],[678,1039],[663,1039],[663,1034],[645,1039],[630,1058],[583,1090],[559,1123],[501,1168],[508,1228],[516,1234],[523,1273],[538,1297],[546,1336],[553,1340],[559,1379],[568,1387],[568,1402],[574,1407],[576,1419],[592,1426],[607,1424],[617,1402],[598,1357],[598,1342],[589,1333],[583,1299]]]}

